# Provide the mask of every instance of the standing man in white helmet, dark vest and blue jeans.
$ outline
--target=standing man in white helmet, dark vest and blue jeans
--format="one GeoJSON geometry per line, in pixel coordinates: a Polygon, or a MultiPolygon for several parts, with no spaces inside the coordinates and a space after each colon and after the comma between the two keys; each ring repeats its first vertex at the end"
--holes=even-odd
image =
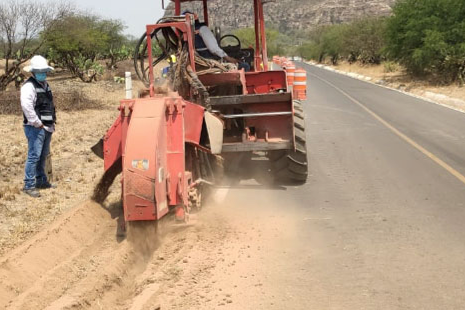
{"type": "Polygon", "coordinates": [[[28,143],[23,191],[37,198],[40,197],[37,189],[55,188],[45,174],[45,161],[56,122],[52,90],[46,82],[47,73],[53,68],[44,57],[36,55],[24,70],[32,76],[21,87],[24,133],[28,143]]]}

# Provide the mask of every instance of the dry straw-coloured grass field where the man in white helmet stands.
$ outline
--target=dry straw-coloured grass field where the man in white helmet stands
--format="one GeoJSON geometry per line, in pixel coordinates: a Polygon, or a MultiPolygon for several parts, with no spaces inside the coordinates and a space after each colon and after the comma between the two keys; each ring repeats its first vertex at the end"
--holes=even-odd
{"type": "MultiPolygon", "coordinates": [[[[111,126],[124,97],[124,84],[75,79],[50,79],[52,90],[79,89],[99,104],[98,109],[57,111],[52,136],[53,183],[33,199],[22,193],[27,143],[21,115],[0,115],[0,254],[16,247],[60,214],[88,199],[103,173],[103,162],[90,147],[111,126]]],[[[18,102],[18,105],[20,103],[18,102]]]]}

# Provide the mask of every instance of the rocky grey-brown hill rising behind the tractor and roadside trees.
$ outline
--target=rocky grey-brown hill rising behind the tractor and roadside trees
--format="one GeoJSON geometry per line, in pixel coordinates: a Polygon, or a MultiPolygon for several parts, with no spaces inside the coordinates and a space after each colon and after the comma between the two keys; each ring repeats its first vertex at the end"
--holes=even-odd
{"type": "MultiPolygon", "coordinates": [[[[281,31],[289,31],[349,22],[363,16],[386,16],[390,14],[395,0],[268,0],[267,2],[266,21],[281,31]]],[[[211,25],[219,25],[223,29],[252,27],[252,3],[252,0],[209,1],[211,25]]],[[[201,2],[195,2],[193,5],[183,4],[182,9],[192,9],[200,13],[201,2]]],[[[172,14],[171,5],[166,15],[172,14]]]]}

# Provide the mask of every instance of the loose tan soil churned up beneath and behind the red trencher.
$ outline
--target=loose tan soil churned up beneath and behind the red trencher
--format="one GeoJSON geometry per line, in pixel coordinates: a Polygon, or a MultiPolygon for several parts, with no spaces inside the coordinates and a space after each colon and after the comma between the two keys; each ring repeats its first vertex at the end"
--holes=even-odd
{"type": "Polygon", "coordinates": [[[0,257],[0,308],[266,309],[279,293],[265,259],[293,230],[283,212],[257,221],[252,204],[131,225],[121,241],[108,206],[85,202],[0,257]]]}

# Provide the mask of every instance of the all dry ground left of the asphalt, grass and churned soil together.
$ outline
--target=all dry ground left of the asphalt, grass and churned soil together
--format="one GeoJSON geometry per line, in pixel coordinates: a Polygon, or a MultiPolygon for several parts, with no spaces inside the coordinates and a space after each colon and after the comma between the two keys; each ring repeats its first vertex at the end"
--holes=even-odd
{"type": "Polygon", "coordinates": [[[276,235],[292,234],[277,228],[289,226],[284,214],[256,223],[253,211],[244,218],[213,199],[191,224],[167,219],[117,236],[120,182],[104,203],[90,200],[103,172],[90,147],[115,120],[123,86],[73,83],[102,107],[58,112],[52,138],[58,187],[41,191],[40,199],[21,192],[22,118],[0,116],[0,308],[256,309],[276,303],[260,266],[267,249],[279,248],[276,235]]]}

